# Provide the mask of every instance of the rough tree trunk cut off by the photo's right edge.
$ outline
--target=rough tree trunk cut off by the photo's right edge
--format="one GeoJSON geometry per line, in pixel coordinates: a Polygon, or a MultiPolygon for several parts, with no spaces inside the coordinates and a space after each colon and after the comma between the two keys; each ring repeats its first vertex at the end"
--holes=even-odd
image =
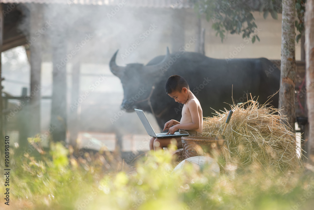
{"type": "MultiPolygon", "coordinates": [[[[305,11],[306,105],[309,121],[309,152],[314,154],[314,0],[306,1],[305,11]]],[[[311,158],[314,162],[313,157],[311,158]]]]}

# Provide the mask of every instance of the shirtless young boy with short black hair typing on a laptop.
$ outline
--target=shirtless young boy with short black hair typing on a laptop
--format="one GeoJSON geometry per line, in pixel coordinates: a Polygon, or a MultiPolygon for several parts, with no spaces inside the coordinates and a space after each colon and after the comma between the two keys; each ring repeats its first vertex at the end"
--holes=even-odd
{"type": "MultiPolygon", "coordinates": [[[[176,102],[184,104],[180,122],[169,120],[165,123],[164,130],[173,134],[176,130],[180,133],[187,133],[189,136],[202,136],[203,132],[203,111],[198,99],[190,91],[187,81],[179,76],[173,75],[168,78],[165,85],[166,94],[174,98],[176,102]]],[[[158,139],[152,137],[149,141],[150,150],[159,150],[171,144],[176,139],[177,147],[183,148],[181,137],[158,139]]]]}

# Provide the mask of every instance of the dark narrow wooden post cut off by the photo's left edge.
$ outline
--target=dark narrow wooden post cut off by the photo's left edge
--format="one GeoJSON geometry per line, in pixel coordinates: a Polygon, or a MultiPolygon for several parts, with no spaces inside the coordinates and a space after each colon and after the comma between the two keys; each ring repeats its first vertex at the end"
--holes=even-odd
{"type": "MultiPolygon", "coordinates": [[[[2,11],[2,3],[0,3],[0,11],[2,11]]],[[[2,100],[2,61],[1,61],[1,53],[2,53],[2,43],[3,43],[3,12],[0,13],[0,145],[3,145],[4,139],[4,131],[3,131],[3,100],[2,100]]]]}

